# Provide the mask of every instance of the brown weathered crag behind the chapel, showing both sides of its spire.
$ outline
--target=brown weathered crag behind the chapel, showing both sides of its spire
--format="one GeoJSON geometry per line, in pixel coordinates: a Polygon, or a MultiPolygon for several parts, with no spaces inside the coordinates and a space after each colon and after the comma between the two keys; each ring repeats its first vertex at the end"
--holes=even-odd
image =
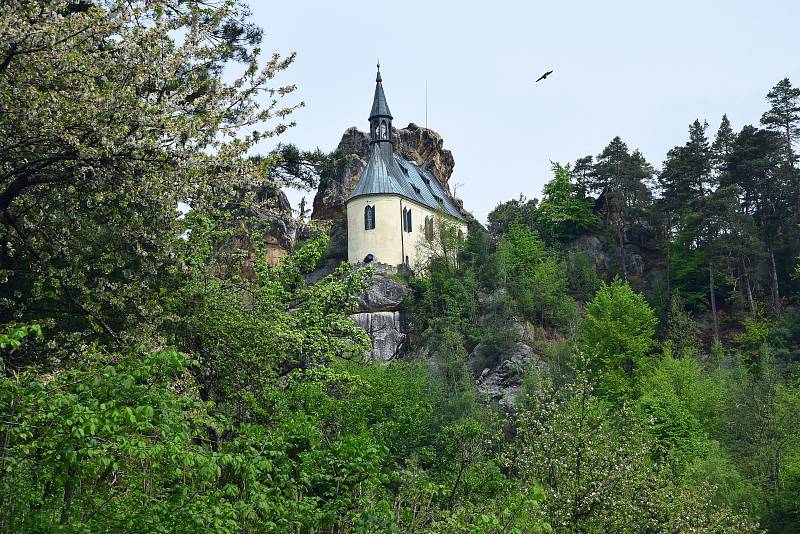
{"type": "MultiPolygon", "coordinates": [[[[448,181],[453,174],[453,154],[442,148],[442,137],[427,128],[409,124],[394,129],[395,153],[431,171],[449,192],[448,181]]],[[[344,213],[345,201],[355,189],[361,171],[367,165],[369,134],[350,127],[342,135],[337,150],[341,159],[331,176],[323,177],[314,196],[312,219],[336,219],[344,213]]]]}

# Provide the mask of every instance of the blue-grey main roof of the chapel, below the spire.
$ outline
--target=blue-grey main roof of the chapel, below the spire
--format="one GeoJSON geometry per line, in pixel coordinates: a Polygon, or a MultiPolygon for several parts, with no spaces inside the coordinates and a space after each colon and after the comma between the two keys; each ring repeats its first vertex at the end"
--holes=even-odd
{"type": "Polygon", "coordinates": [[[367,166],[347,200],[381,194],[400,195],[432,210],[441,209],[456,219],[464,220],[450,195],[433,174],[397,154],[386,156],[373,145],[370,147],[367,166]]]}

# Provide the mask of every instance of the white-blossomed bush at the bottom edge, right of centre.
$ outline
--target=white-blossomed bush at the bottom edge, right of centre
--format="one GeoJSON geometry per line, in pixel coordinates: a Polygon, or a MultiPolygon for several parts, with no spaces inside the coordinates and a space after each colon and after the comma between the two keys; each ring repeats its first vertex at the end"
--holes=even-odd
{"type": "Polygon", "coordinates": [[[653,461],[647,427],[593,394],[578,374],[528,398],[514,467],[542,481],[543,517],[558,532],[757,532],[712,503],[713,489],[687,486],[653,461]]]}

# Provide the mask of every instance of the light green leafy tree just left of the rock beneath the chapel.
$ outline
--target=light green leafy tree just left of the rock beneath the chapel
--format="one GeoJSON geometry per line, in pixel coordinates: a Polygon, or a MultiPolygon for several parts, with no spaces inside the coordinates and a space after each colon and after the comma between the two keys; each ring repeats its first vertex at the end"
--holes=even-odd
{"type": "MultiPolygon", "coordinates": [[[[190,219],[193,220],[193,219],[190,219]]],[[[219,278],[210,266],[218,237],[208,219],[190,227],[185,242],[185,284],[167,299],[176,321],[174,343],[202,364],[197,375],[207,398],[243,417],[243,402],[296,367],[336,358],[361,359],[369,349],[365,332],[346,316],[368,281],[368,270],[342,265],[306,286],[327,250],[327,236],[309,239],[275,268],[256,262],[257,277],[219,278]]]]}

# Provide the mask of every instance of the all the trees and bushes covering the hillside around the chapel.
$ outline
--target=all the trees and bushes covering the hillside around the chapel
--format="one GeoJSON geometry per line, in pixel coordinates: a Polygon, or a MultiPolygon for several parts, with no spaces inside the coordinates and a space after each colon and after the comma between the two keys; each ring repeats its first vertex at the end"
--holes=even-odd
{"type": "Polygon", "coordinates": [[[438,232],[377,365],[371,269],[309,283],[324,223],[266,253],[333,158],[250,155],[302,103],[247,16],[0,11],[0,531],[800,530],[800,89],[438,232]],[[468,360],[518,325],[541,365],[507,410],[468,360]]]}

